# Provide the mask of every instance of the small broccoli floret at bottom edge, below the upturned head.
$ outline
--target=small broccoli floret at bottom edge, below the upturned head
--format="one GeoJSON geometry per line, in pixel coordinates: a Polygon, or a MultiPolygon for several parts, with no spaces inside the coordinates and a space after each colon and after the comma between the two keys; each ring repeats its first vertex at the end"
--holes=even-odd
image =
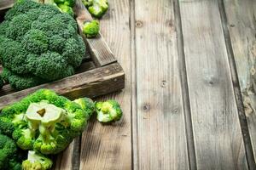
{"type": "Polygon", "coordinates": [[[23,170],[47,170],[52,166],[53,162],[46,156],[37,153],[34,150],[29,150],[27,159],[22,161],[23,170]]]}

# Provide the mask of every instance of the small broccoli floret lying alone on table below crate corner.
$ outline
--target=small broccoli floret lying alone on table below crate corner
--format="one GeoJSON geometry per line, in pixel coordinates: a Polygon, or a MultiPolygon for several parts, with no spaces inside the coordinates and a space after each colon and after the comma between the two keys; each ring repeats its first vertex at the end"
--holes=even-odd
{"type": "Polygon", "coordinates": [[[97,120],[99,122],[119,121],[123,111],[117,101],[108,99],[105,102],[96,103],[97,120]]]}

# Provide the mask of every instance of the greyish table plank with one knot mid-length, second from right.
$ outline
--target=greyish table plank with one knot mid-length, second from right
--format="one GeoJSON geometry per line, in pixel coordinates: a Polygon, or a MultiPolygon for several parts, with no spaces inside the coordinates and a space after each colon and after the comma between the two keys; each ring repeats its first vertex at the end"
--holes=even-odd
{"type": "Polygon", "coordinates": [[[198,169],[247,169],[218,1],[180,1],[198,169]]]}

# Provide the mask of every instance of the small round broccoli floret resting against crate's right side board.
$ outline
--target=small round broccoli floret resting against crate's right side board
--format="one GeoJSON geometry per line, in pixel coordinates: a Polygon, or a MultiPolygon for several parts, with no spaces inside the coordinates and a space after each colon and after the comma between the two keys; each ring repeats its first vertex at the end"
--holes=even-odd
{"type": "Polygon", "coordinates": [[[83,33],[86,37],[96,37],[100,31],[99,22],[97,20],[92,20],[90,22],[85,22],[83,33]]]}

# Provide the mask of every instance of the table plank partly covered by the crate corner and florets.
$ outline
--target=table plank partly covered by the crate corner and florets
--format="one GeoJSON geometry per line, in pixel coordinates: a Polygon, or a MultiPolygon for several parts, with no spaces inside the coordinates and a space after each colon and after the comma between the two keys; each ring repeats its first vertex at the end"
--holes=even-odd
{"type": "Polygon", "coordinates": [[[102,35],[125,71],[125,89],[97,100],[117,99],[124,116],[105,125],[90,120],[81,142],[80,169],[132,169],[131,161],[131,31],[129,0],[109,0],[108,13],[100,20],[102,35]]]}

